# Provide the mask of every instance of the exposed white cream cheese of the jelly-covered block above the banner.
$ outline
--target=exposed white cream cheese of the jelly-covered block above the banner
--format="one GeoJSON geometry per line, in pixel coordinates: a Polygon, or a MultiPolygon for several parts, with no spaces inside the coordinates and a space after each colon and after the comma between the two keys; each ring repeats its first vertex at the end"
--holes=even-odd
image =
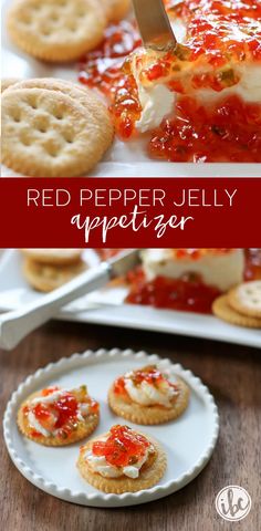
{"type": "MultiPolygon", "coordinates": [[[[200,3],[200,2],[199,2],[200,3]]],[[[201,3],[203,3],[201,1],[201,3]]],[[[171,27],[177,41],[186,44],[187,28],[186,21],[177,18],[171,11],[169,12],[171,27]]],[[[261,30],[261,22],[254,21],[257,32],[261,30]]],[[[237,24],[231,25],[231,35],[238,40],[246,40],[248,35],[240,30],[237,24]]],[[[198,75],[208,75],[215,72],[215,67],[209,63],[184,62],[181,69],[174,69],[173,73],[156,81],[144,79],[143,72],[146,67],[160,61],[165,56],[165,52],[156,52],[152,50],[139,49],[133,53],[130,61],[132,73],[135,77],[138,91],[138,100],[142,107],[142,114],[136,123],[136,129],[139,133],[146,133],[159,126],[163,118],[174,116],[175,104],[179,100],[180,94],[170,90],[168,84],[174,80],[179,80],[184,85],[184,94],[192,96],[203,106],[213,105],[222,98],[231,95],[240,96],[247,103],[261,102],[261,61],[252,62],[250,60],[232,62],[230,70],[238,81],[232,86],[225,87],[222,91],[213,88],[195,87],[191,80],[197,73],[198,75]]]]}

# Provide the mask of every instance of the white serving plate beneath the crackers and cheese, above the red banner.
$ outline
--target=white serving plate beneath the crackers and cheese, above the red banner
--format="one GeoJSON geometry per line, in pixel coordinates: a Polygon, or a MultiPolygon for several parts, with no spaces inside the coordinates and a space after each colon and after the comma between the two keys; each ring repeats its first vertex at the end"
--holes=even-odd
{"type": "MultiPolygon", "coordinates": [[[[2,4],[2,77],[60,77],[77,81],[77,65],[40,62],[12,44],[6,29],[6,13],[11,0],[2,4]]],[[[19,177],[2,166],[2,177],[19,177]]],[[[260,177],[261,164],[187,164],[149,159],[142,140],[115,140],[105,158],[90,174],[92,177],[260,177]]]]}

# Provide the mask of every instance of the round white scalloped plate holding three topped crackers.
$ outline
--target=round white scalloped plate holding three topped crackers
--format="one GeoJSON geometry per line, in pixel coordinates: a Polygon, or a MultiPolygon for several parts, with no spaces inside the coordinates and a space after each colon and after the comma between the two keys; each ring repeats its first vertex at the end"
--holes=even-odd
{"type": "MultiPolygon", "coordinates": [[[[75,461],[80,444],[64,448],[48,448],[22,437],[17,428],[18,408],[28,395],[42,387],[59,384],[74,387],[87,384],[91,395],[101,403],[101,423],[95,433],[106,431],[113,424],[123,423],[108,409],[106,392],[112,381],[130,368],[148,363],[171,365],[156,354],[134,353],[130,350],[86,351],[62,358],[29,376],[8,403],[3,431],[8,451],[15,467],[33,485],[45,492],[73,503],[93,507],[134,506],[163,498],[190,482],[205,468],[215,449],[219,417],[213,397],[190,371],[171,365],[174,374],[181,376],[191,388],[186,413],[176,421],[161,426],[140,426],[140,431],[155,436],[168,457],[168,467],[160,482],[152,489],[135,493],[105,494],[86,483],[77,472],[75,461]]],[[[129,426],[135,426],[128,423],[129,426]]]]}

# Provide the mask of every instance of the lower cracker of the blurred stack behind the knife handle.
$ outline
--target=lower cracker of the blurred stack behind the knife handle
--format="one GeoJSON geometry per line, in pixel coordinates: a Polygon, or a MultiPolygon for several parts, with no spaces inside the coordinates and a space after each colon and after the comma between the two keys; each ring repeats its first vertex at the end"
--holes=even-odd
{"type": "Polygon", "coordinates": [[[86,269],[86,263],[80,260],[69,266],[49,266],[25,259],[23,274],[29,284],[38,291],[48,293],[69,282],[86,269]]]}

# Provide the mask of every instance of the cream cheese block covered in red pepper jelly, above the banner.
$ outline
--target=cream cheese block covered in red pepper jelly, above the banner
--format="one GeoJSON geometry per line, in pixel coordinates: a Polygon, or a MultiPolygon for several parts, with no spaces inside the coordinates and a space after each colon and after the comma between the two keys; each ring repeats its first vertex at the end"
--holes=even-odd
{"type": "Polygon", "coordinates": [[[135,27],[121,23],[86,54],[80,81],[108,96],[119,137],[152,158],[260,163],[260,1],[165,3],[175,50],[138,48],[135,27]]]}

